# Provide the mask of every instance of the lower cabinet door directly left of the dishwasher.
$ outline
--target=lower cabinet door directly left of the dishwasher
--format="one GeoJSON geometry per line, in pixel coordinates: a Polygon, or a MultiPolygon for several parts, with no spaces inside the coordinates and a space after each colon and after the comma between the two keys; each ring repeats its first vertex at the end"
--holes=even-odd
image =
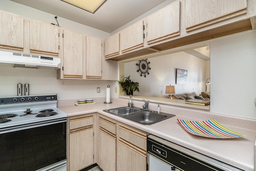
{"type": "Polygon", "coordinates": [[[118,139],[117,171],[146,171],[146,151],[118,139]]]}

